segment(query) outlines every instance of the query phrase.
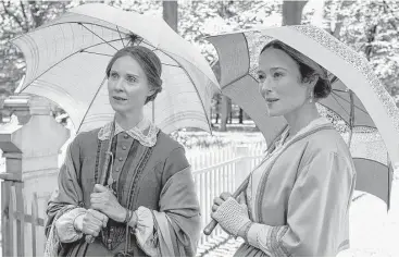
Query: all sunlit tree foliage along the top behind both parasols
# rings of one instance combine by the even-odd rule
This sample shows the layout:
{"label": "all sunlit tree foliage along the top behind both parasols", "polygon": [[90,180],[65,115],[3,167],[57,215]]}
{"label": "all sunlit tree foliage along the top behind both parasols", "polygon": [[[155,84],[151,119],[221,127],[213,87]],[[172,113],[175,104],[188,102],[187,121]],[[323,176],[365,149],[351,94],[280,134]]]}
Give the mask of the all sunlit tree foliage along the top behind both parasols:
{"label": "all sunlit tree foliage along the top behind both parasols", "polygon": [[[319,1],[319,0],[316,0]],[[58,17],[86,1],[0,2],[0,87],[13,91],[25,70],[21,52],[9,44],[13,37]],[[92,0],[87,2],[95,2]],[[126,11],[162,16],[162,1],[103,0]],[[303,9],[302,24],[312,22],[315,10]],[[204,37],[253,26],[282,24],[282,1],[178,1],[178,32],[198,47],[210,63],[217,59]],[[370,59],[378,77],[392,95],[399,93],[399,2],[326,0],[321,26]]]}

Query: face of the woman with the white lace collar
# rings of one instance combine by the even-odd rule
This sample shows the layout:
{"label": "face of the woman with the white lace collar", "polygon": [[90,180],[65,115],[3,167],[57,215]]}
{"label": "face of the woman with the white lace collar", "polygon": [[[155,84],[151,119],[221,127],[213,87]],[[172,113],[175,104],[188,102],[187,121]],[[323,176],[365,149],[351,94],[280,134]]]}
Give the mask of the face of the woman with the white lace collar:
{"label": "face of the woman with the white lace collar", "polygon": [[152,94],[140,64],[132,57],[119,58],[108,78],[108,93],[112,108],[122,114],[141,110]]}

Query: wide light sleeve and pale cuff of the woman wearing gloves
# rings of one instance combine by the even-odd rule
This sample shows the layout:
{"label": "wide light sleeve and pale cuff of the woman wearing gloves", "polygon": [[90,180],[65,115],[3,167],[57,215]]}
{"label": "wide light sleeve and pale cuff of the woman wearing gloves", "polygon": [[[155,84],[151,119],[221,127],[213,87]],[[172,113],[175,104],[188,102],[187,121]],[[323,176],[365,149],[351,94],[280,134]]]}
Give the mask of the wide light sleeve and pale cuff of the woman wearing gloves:
{"label": "wide light sleeve and pale cuff of the woman wearing gloves", "polygon": [[353,184],[348,160],[337,152],[316,153],[298,174],[287,224],[253,223],[249,244],[270,256],[336,256],[349,246],[348,232],[342,231],[348,229]]}

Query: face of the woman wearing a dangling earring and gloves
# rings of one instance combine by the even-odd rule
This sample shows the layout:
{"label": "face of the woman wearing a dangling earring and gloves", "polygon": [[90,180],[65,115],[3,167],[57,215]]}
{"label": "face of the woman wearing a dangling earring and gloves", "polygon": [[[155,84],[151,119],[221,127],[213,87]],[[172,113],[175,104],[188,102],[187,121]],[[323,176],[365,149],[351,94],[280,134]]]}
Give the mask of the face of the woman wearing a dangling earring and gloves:
{"label": "face of the woman wearing a dangling earring and gloves", "polygon": [[298,64],[283,50],[269,48],[261,53],[258,78],[271,116],[299,109],[310,96],[311,87],[301,83]]}

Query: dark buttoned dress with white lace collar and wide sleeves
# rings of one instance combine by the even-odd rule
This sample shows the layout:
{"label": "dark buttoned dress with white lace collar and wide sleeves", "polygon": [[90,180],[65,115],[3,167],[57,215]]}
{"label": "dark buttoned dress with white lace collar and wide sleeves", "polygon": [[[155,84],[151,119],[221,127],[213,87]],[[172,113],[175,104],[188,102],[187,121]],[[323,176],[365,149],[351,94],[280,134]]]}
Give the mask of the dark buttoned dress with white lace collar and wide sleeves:
{"label": "dark buttoned dress with white lace collar and wide sleeves", "polygon": [[[90,206],[113,125],[112,188],[123,207],[137,210],[138,222],[126,234],[126,224],[110,219],[87,244],[74,219]],[[184,148],[148,120],[128,131],[109,123],[77,135],[47,214],[49,256],[115,256],[126,244],[130,256],[195,256],[200,235],[199,202]]]}

